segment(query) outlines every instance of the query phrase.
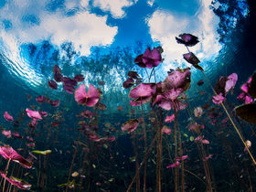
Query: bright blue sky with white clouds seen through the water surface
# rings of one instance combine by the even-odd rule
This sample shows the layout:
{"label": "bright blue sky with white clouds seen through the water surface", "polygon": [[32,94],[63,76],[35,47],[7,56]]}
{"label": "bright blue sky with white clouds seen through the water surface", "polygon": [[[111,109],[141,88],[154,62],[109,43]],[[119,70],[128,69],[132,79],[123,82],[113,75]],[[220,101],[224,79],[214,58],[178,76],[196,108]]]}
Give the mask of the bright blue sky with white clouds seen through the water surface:
{"label": "bright blue sky with white clouds seen through the water surface", "polygon": [[[0,51],[16,65],[15,75],[38,79],[23,58],[21,45],[47,39],[55,47],[71,41],[80,55],[91,47],[133,46],[136,39],[162,46],[163,69],[181,62],[187,49],[175,37],[191,33],[200,43],[191,51],[199,59],[218,55],[219,17],[211,0],[0,0]],[[206,66],[207,67],[207,66]]]}

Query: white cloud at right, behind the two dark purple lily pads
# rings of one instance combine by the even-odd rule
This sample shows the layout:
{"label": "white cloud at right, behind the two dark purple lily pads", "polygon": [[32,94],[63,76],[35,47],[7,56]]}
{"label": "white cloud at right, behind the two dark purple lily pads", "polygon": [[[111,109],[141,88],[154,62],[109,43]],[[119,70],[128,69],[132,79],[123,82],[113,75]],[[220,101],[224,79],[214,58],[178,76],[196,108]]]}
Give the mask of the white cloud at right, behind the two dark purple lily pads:
{"label": "white cloud at right, behind the two dark purple lily pads", "polygon": [[171,63],[183,61],[182,55],[187,53],[187,48],[176,43],[179,34],[190,33],[199,38],[200,43],[190,48],[198,53],[198,58],[207,59],[218,54],[217,25],[219,18],[208,8],[211,0],[200,1],[201,5],[195,16],[176,16],[171,12],[158,9],[146,20],[152,39],[159,41],[164,48],[165,69],[173,68]]}

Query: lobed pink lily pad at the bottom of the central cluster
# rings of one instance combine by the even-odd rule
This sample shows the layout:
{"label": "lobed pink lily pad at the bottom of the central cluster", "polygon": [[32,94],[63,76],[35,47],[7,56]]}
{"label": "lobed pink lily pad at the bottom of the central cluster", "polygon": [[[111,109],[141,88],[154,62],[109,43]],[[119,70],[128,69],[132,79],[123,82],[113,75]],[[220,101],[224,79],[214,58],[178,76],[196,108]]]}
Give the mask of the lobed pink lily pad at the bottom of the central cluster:
{"label": "lobed pink lily pad at the bottom of the central cluster", "polygon": [[155,102],[153,104],[157,104],[159,107],[169,111],[171,109],[176,111],[183,110],[187,107],[187,103],[183,103],[181,101],[177,101],[177,104],[175,104],[175,101],[180,93],[182,93],[184,90],[181,88],[178,89],[172,89],[171,91],[167,91],[162,95],[157,95]]}

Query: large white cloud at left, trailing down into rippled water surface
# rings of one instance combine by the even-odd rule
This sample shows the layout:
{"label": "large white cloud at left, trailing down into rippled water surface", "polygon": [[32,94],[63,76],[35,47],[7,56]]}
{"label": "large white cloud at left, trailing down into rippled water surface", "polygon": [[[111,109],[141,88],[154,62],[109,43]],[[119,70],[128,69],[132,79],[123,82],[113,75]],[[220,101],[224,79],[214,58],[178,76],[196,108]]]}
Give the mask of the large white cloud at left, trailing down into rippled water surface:
{"label": "large white cloud at left, trailing down into rippled water surface", "polygon": [[[38,4],[40,7],[33,5],[36,10],[32,11],[27,10],[27,6],[20,8],[20,5],[6,4],[0,12],[1,20],[8,20],[11,23],[11,27],[5,29],[5,24],[0,21],[2,51],[5,51],[8,59],[14,61],[8,68],[11,69],[10,72],[16,73],[29,83],[39,84],[42,79],[36,69],[30,69],[27,60],[22,58],[20,52],[22,44],[49,39],[53,45],[60,46],[65,41],[71,41],[81,55],[89,55],[91,46],[110,45],[117,34],[117,27],[109,27],[106,24],[107,16],[96,16],[84,10],[75,16],[67,17],[60,10],[54,13],[45,11],[42,9],[45,4],[41,1]],[[82,1],[81,5],[87,6],[86,1]],[[76,4],[69,3],[66,6],[72,9]],[[37,16],[38,25],[24,23],[24,16],[33,15]]]}

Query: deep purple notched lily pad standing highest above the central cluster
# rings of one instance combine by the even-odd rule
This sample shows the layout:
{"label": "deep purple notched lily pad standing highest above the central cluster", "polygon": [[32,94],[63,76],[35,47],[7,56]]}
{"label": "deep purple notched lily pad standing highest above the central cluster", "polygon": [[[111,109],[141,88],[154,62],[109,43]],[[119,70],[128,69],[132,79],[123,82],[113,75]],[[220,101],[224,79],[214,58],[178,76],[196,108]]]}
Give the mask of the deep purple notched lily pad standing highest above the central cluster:
{"label": "deep purple notched lily pad standing highest above the central cluster", "polygon": [[162,62],[161,53],[156,48],[153,48],[152,51],[150,48],[146,48],[143,55],[143,62],[147,68],[155,68]]}

